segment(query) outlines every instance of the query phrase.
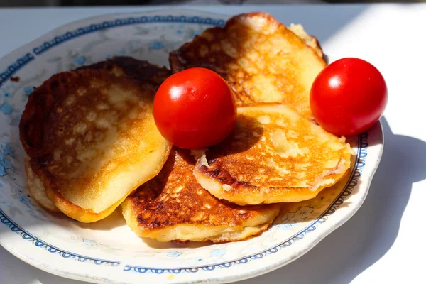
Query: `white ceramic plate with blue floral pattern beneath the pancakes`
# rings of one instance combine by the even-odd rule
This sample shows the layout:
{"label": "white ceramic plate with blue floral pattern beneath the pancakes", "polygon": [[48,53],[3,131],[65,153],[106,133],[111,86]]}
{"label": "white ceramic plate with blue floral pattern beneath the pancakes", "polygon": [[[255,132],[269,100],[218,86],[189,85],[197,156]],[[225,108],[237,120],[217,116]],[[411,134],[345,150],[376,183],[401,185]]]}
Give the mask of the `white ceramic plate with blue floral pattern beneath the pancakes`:
{"label": "white ceramic plate with blue floral pattern beneath the pancakes", "polygon": [[[380,124],[349,139],[350,175],[315,200],[293,204],[261,236],[185,246],[140,239],[119,212],[80,224],[41,209],[28,195],[18,122],[33,86],[55,72],[128,55],[168,65],[168,53],[227,16],[188,10],[114,14],[55,29],[0,60],[0,244],[23,261],[94,283],[224,283],[294,261],[364,202],[383,149]],[[19,77],[19,81],[13,80]]]}

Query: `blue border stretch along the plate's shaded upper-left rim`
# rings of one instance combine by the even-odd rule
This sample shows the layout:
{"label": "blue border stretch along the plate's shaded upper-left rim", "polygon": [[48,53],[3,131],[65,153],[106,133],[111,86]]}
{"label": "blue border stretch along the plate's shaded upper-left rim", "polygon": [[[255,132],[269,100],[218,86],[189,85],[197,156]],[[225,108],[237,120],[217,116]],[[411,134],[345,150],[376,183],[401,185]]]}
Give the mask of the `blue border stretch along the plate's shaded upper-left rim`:
{"label": "blue border stretch along the plate's shaded upper-left rim", "polygon": [[112,21],[103,21],[102,23],[92,23],[82,28],[77,28],[74,31],[67,31],[62,35],[55,36],[52,40],[45,41],[43,44],[36,48],[33,48],[33,53],[26,53],[23,57],[13,62],[9,67],[0,73],[0,87],[4,82],[9,80],[21,67],[31,62],[36,56],[45,53],[45,51],[54,48],[57,45],[65,43],[73,38],[78,38],[81,35],[87,35],[88,33],[94,33],[97,31],[106,30],[108,28],[116,28],[120,26],[130,26],[143,23],[198,23],[212,26],[224,26],[225,21],[215,18],[203,18],[198,16],[173,16],[173,15],[156,15],[156,16],[140,16],[140,17],[129,17],[129,18],[117,18]]}

